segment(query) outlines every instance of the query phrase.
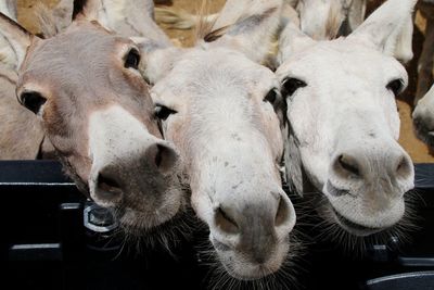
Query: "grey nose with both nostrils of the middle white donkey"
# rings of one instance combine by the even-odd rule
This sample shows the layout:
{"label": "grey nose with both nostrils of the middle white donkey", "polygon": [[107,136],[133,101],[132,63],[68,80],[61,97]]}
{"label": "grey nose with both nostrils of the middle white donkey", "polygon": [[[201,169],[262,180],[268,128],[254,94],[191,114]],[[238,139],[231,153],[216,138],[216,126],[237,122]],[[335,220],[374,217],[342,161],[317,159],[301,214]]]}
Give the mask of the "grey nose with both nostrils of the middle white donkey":
{"label": "grey nose with both nostrils of the middle white donkey", "polygon": [[289,237],[295,225],[295,211],[283,191],[270,192],[261,194],[260,202],[241,207],[221,203],[214,212],[214,223],[213,236],[219,243],[242,251],[256,264],[264,264],[272,255],[270,249]]}

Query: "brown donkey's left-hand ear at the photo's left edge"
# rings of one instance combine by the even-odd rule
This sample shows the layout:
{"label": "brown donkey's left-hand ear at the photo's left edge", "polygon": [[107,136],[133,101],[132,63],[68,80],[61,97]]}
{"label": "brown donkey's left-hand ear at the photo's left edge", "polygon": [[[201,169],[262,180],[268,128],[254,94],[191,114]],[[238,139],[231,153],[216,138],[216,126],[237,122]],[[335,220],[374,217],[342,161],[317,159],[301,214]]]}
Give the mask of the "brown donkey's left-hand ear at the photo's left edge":
{"label": "brown donkey's left-hand ear at the photo's left edge", "polygon": [[20,24],[0,13],[0,45],[9,46],[12,55],[7,56],[13,60],[12,66],[15,70],[23,63],[33,37]]}

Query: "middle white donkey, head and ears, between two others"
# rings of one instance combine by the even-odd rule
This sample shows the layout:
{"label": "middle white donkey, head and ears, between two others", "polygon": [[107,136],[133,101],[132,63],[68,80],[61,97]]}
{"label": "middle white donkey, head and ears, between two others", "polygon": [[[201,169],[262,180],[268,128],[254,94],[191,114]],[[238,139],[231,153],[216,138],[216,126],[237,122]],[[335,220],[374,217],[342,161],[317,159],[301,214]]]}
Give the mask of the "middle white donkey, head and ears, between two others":
{"label": "middle white donkey, head and ears, between two others", "polygon": [[[135,40],[145,51],[155,114],[180,151],[192,207],[209,228],[219,265],[254,280],[278,272],[293,250],[295,212],[279,169],[283,100],[273,73],[258,64],[281,1],[240,2],[227,1],[217,21],[225,26],[200,29],[193,48]],[[235,15],[239,5],[245,10]]]}

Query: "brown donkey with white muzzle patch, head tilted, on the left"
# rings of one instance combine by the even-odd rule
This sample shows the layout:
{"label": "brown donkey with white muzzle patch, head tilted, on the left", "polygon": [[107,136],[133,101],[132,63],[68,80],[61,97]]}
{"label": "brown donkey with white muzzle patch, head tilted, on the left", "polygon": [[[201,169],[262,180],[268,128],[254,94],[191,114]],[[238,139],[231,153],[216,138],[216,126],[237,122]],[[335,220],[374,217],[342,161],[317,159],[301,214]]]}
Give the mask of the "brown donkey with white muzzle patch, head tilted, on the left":
{"label": "brown donkey with white muzzle patch, head tilted, on the left", "polygon": [[[20,67],[9,89],[16,83],[18,102],[35,114],[38,130],[77,187],[113,210],[127,234],[151,234],[186,203],[177,179],[178,153],[162,140],[149,86],[138,70],[138,47],[79,15],[49,39],[0,15],[0,34]],[[21,137],[13,147],[27,146]]]}

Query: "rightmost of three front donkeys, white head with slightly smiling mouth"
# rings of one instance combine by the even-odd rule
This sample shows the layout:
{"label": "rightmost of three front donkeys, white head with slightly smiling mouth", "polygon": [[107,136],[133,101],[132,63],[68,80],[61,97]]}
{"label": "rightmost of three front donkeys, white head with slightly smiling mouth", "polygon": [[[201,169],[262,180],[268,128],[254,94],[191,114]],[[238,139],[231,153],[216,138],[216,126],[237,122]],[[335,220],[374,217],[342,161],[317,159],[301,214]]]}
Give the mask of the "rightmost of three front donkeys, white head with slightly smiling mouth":
{"label": "rightmost of three front donkeys, white head with slightly smiling mouth", "polygon": [[346,38],[316,41],[291,24],[280,38],[288,178],[299,194],[320,192],[308,196],[329,229],[342,234],[331,230],[332,238],[348,238],[342,241],[365,242],[357,237],[399,230],[406,220],[414,173],[397,142],[395,97],[408,76],[385,43],[414,4],[388,0]]}

